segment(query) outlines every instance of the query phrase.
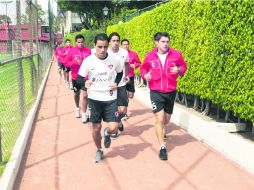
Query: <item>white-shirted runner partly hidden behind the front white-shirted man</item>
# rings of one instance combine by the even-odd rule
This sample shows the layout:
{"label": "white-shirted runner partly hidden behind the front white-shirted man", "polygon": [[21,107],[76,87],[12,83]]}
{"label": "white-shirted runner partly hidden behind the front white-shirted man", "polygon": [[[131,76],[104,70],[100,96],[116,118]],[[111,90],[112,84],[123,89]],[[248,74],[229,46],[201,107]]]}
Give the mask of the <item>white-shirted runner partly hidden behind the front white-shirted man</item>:
{"label": "white-shirted runner partly hidden behind the front white-shirted man", "polygon": [[[125,116],[128,107],[128,96],[126,91],[126,83],[129,82],[129,56],[128,52],[119,47],[120,45],[120,35],[117,32],[113,32],[109,35],[109,44],[110,48],[108,52],[118,56],[121,60],[123,69],[123,77],[117,87],[117,104],[119,110],[119,131],[122,132],[124,130],[124,126],[122,123],[122,118]],[[112,136],[113,138],[117,137],[117,134]]]}

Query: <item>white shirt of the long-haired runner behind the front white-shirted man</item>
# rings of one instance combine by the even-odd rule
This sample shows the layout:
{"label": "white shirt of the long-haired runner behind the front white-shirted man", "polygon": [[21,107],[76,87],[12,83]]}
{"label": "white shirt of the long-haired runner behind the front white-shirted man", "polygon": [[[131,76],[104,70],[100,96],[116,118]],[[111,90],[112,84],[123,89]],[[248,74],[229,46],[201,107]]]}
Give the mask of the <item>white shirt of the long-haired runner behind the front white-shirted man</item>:
{"label": "white shirt of the long-haired runner behind the front white-shirted man", "polygon": [[121,79],[121,81],[119,82],[118,86],[125,86],[126,82],[125,82],[125,63],[129,63],[129,54],[128,51],[123,49],[123,48],[119,48],[118,52],[113,52],[111,49],[108,49],[108,52],[116,55],[117,57],[119,57],[121,59],[121,67],[123,69],[123,77]]}

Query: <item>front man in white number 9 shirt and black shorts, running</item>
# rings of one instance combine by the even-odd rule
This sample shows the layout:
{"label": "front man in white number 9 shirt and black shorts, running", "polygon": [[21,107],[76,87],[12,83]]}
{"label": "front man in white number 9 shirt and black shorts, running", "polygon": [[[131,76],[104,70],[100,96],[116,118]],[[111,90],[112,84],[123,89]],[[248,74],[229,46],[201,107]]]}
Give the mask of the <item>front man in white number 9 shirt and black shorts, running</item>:
{"label": "front man in white number 9 shirt and black shorts, running", "polygon": [[[111,144],[110,134],[118,130],[117,85],[123,72],[118,57],[107,53],[109,38],[101,33],[95,36],[95,54],[86,58],[79,70],[78,83],[87,87],[90,109],[90,122],[93,128],[93,139],[97,148],[95,162],[103,159],[101,146],[101,120],[107,122],[104,129],[104,146]],[[117,75],[116,75],[117,73]]]}

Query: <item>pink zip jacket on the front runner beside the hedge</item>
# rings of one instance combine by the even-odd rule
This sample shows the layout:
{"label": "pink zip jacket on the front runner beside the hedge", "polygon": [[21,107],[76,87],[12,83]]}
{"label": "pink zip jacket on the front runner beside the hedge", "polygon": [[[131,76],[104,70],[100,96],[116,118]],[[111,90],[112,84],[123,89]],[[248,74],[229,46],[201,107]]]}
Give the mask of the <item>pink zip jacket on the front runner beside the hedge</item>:
{"label": "pink zip jacket on the front runner beside the hedge", "polygon": [[[177,66],[181,69],[179,73],[171,73],[170,69]],[[151,80],[148,82],[150,90],[158,92],[172,92],[176,90],[177,77],[183,76],[186,72],[186,63],[180,52],[169,48],[164,67],[157,55],[157,48],[149,52],[140,67],[140,74],[144,78],[145,74],[151,72]]]}

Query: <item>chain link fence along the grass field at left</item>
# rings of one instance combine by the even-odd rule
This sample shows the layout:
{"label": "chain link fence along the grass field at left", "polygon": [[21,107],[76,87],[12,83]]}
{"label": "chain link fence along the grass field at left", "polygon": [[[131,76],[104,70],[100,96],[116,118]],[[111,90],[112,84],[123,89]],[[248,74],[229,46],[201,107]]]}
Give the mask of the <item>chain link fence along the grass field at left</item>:
{"label": "chain link fence along the grass field at left", "polygon": [[[38,41],[37,1],[22,3],[0,2],[0,12],[5,13],[0,15],[0,174],[52,60],[50,44]],[[8,7],[12,11],[3,11]],[[28,18],[26,23],[21,23],[22,17]]]}

